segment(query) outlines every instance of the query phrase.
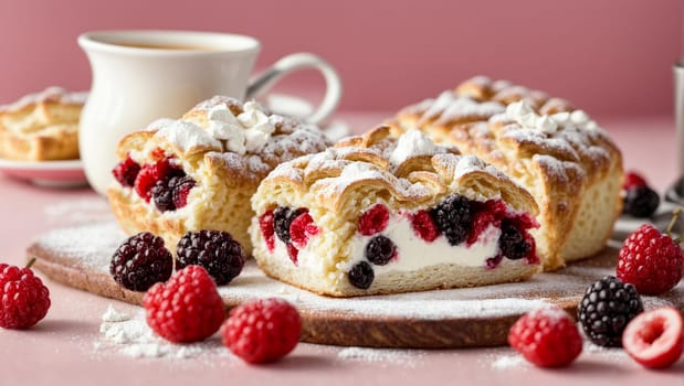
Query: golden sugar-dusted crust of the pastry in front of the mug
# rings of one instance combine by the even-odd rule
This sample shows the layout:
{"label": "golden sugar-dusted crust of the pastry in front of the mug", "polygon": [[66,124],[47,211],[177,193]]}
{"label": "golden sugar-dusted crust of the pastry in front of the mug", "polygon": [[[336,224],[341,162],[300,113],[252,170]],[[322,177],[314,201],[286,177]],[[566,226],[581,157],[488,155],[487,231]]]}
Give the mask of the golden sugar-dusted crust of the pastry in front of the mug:
{"label": "golden sugar-dusted crust of the pastry in front of the mug", "polygon": [[[248,106],[250,109],[245,110]],[[211,114],[233,119],[233,124],[210,119]],[[248,129],[234,119],[244,120],[250,115],[262,119],[252,122],[251,129],[262,125],[260,127],[270,132],[262,136],[262,142],[253,149],[238,149],[238,144],[229,143],[234,139],[231,132],[242,135]],[[229,129],[236,131],[227,131]],[[214,97],[179,120],[159,120],[147,130],[126,136],[117,147],[122,160],[130,157],[139,165],[150,165],[167,159],[182,170],[196,184],[189,192],[187,205],[161,212],[154,200],[146,202],[134,186],[118,182],[108,187],[107,196],[118,223],[128,234],[151,232],[164,237],[167,246],[175,250],[179,238],[188,230],[225,230],[249,255],[252,247],[246,229],[253,215],[250,199],[261,180],[278,163],[326,147],[327,141],[316,127],[270,115],[254,103],[243,105],[236,99]]]}

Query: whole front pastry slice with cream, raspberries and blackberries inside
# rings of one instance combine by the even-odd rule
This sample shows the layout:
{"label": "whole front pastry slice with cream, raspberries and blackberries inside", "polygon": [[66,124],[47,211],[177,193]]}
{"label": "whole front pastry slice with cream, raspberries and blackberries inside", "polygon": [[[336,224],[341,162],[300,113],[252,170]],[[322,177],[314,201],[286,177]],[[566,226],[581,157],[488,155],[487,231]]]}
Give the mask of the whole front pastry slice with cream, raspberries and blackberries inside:
{"label": "whole front pastry slice with cream, raspberries and blackberries inside", "polygon": [[540,270],[537,205],[495,168],[388,127],[278,165],[252,199],[253,256],[334,297],[473,287]]}

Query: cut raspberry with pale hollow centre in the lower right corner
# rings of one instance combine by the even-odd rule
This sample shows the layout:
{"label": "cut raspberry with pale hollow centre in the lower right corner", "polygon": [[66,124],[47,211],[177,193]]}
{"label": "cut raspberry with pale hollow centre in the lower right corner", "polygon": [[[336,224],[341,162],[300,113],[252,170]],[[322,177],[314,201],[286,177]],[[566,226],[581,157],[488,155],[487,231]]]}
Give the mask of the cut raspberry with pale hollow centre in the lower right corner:
{"label": "cut raspberry with pale hollow centre in the lower right corner", "polygon": [[669,367],[684,350],[682,324],[682,314],[671,307],[643,312],[624,329],[622,346],[645,367]]}

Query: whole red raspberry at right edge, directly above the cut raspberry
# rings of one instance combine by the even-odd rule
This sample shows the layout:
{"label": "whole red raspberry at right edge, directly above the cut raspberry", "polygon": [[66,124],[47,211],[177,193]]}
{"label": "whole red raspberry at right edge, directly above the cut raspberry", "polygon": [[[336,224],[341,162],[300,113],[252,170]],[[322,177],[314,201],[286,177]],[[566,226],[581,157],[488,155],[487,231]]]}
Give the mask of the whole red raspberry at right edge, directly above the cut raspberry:
{"label": "whole red raspberry at right edge, directly above the cut raspberry", "polygon": [[684,254],[677,243],[650,224],[632,233],[618,253],[618,278],[641,294],[661,294],[673,289],[684,275]]}

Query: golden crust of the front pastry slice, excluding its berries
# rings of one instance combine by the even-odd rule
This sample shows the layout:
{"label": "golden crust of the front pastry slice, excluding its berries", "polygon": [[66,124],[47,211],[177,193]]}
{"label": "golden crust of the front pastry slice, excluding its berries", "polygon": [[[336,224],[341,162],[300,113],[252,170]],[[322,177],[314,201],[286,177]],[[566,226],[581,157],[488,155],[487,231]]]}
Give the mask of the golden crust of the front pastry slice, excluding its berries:
{"label": "golden crust of the front pastry slice, excluding its berries", "polygon": [[[419,131],[407,132],[404,137],[397,139],[390,135],[389,127],[381,126],[364,136],[344,139],[318,154],[285,162],[271,172],[252,199],[256,216],[250,234],[260,268],[293,286],[335,297],[483,286],[524,280],[537,272],[538,261],[526,259],[504,259],[502,269],[487,268],[484,262],[462,265],[454,262],[460,258],[455,249],[449,249],[453,253],[448,254],[451,260],[446,262],[408,270],[393,266],[375,274],[367,289],[349,282],[349,267],[364,258],[362,250],[358,253],[354,244],[360,232],[357,224],[361,214],[375,205],[386,206],[390,218],[399,218],[397,224],[434,207],[452,194],[482,203],[503,200],[511,211],[533,217],[537,214],[532,195],[492,165],[473,156],[461,156],[454,148],[434,147]],[[319,229],[296,258],[283,254],[287,247],[290,255],[291,245],[274,238],[270,246],[262,230],[264,218],[275,216],[278,207],[305,208]],[[441,243],[448,244],[443,237]],[[494,244],[494,254],[497,248]],[[463,253],[470,254],[470,246],[463,247]],[[421,259],[410,253],[399,256],[399,259]]]}

